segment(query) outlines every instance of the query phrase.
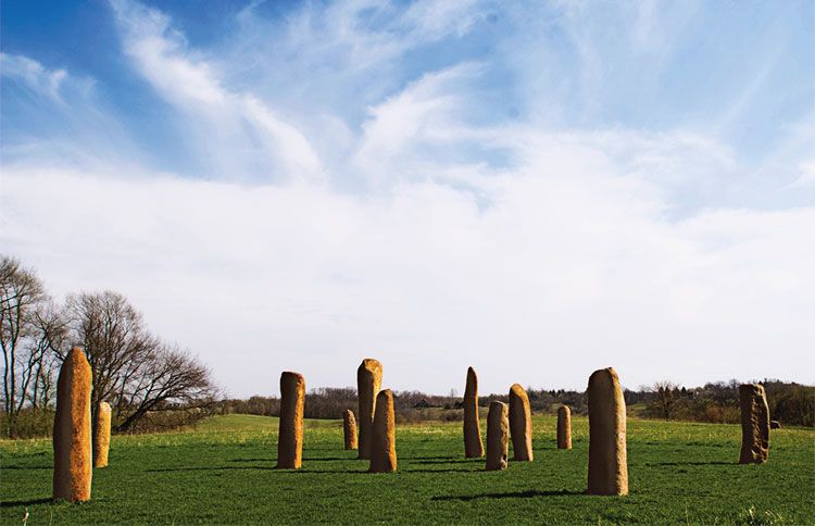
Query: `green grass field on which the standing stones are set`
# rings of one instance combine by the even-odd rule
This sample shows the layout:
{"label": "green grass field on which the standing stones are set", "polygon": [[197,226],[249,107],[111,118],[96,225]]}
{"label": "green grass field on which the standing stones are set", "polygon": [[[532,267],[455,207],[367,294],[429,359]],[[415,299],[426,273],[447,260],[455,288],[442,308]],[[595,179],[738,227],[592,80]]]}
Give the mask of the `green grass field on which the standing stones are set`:
{"label": "green grass field on which the standing stones are set", "polygon": [[367,474],[339,421],[306,421],[303,468],[274,469],[277,419],[230,415],[197,429],[113,438],[88,503],[52,503],[49,440],[0,442],[0,522],[88,523],[815,523],[815,431],[773,431],[769,462],[737,464],[732,425],[629,419],[631,494],[589,497],[588,422],[574,449],[535,417],[535,462],[485,472],[461,423],[397,429],[399,472]]}

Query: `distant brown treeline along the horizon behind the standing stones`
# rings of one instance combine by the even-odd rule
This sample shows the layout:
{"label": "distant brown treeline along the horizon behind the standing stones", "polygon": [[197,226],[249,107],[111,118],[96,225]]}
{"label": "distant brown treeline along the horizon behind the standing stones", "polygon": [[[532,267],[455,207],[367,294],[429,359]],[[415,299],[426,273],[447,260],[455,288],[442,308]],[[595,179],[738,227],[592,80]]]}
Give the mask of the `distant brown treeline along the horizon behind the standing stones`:
{"label": "distant brown treeline along the horizon behind the standing stones", "polygon": [[[789,426],[815,426],[815,387],[780,380],[761,383],[767,392],[770,417]],[[529,405],[535,413],[554,414],[566,404],[575,414],[586,414],[586,392],[527,388]],[[629,412],[644,418],[681,419],[736,424],[739,414],[739,383],[736,380],[686,388],[668,381],[651,387],[625,390]],[[479,397],[486,410],[492,400],[506,402],[507,393]],[[462,399],[456,396],[427,394],[419,391],[397,391],[393,396],[397,422],[461,421]],[[277,416],[280,400],[275,397],[227,399],[221,402],[222,413]],[[339,418],[350,409],[356,412],[356,389],[318,388],[305,397],[306,418]]]}

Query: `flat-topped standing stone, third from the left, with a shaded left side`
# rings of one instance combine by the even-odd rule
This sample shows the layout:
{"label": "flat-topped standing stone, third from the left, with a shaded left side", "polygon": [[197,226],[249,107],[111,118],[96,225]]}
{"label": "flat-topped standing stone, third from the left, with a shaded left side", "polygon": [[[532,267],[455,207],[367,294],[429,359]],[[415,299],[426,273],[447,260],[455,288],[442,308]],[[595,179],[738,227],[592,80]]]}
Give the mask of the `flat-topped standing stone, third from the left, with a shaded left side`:
{"label": "flat-topped standing stone, third from the left, with a shaded left side", "polygon": [[305,379],[298,373],[280,375],[280,427],[277,436],[277,467],[300,469],[303,464],[303,406]]}

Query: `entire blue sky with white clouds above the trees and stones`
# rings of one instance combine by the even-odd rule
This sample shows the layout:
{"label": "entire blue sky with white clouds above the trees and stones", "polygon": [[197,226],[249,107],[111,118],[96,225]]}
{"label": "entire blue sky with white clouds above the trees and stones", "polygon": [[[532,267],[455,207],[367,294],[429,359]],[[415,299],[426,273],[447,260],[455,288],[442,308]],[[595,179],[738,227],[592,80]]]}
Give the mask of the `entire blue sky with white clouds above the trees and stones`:
{"label": "entire blue sky with white clouds above the trees and stones", "polygon": [[3,2],[0,242],[237,394],[367,354],[437,392],[812,381],[814,12]]}

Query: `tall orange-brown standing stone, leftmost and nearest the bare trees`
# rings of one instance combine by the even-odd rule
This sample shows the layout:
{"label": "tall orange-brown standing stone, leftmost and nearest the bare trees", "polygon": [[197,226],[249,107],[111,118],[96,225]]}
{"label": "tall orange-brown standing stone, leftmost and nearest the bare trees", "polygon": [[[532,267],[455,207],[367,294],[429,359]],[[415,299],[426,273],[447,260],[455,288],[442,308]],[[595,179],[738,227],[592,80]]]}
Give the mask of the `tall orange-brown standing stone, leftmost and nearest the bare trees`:
{"label": "tall orange-brown standing stone, leftmost and nearest the bare trees", "polygon": [[53,498],[90,500],[93,474],[90,390],[92,373],[82,349],[65,356],[57,380],[53,421]]}

